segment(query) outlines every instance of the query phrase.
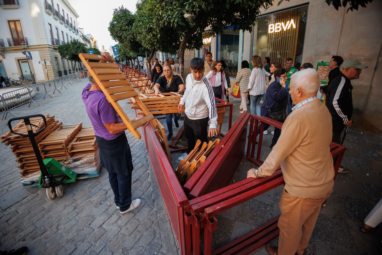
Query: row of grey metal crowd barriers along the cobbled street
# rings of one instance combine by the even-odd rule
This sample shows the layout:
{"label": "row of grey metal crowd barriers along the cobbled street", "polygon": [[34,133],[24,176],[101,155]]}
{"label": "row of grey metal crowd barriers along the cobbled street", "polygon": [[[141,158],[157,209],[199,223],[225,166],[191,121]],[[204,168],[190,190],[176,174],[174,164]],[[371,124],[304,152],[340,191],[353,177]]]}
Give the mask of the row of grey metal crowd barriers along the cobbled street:
{"label": "row of grey metal crowd barriers along the cobbled street", "polygon": [[15,114],[13,114],[13,112],[10,111],[11,109],[26,104],[28,102],[28,107],[31,106],[32,102],[39,106],[39,104],[34,99],[40,96],[44,96],[43,99],[45,99],[45,96],[47,95],[53,98],[50,94],[48,94],[49,92],[53,91],[54,94],[57,90],[59,93],[61,93],[58,87],[60,87],[60,89],[62,89],[62,87],[67,89],[66,86],[68,86],[68,84],[73,85],[74,82],[80,81],[81,78],[86,77],[87,71],[77,71],[74,73],[70,73],[69,75],[55,78],[53,80],[44,81],[42,83],[33,84],[28,87],[3,93],[2,95],[0,95],[0,111],[2,111],[3,113],[2,120],[6,119],[8,114],[12,115],[13,117],[17,117]]}

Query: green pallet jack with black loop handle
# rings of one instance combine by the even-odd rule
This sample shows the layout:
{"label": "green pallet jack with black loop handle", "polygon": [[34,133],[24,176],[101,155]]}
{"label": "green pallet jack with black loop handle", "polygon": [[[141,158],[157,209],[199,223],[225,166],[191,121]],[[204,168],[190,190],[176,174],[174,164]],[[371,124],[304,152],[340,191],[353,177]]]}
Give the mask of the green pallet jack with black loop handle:
{"label": "green pallet jack with black loop handle", "polygon": [[[32,124],[29,120],[29,118],[34,117],[41,117],[45,124],[44,127],[40,128],[40,130],[38,130],[36,133],[33,133],[32,126],[37,126]],[[16,133],[12,130],[11,123],[16,120],[24,120],[25,128],[28,131],[28,135]],[[64,195],[62,184],[75,182],[77,174],[73,173],[72,171],[70,171],[70,169],[63,166],[60,162],[53,158],[45,159],[44,161],[42,160],[40,150],[37,146],[36,139],[34,138],[34,136],[42,132],[42,130],[44,130],[46,126],[47,121],[45,119],[45,116],[42,114],[28,115],[8,120],[8,127],[13,134],[29,137],[41,171],[38,187],[45,188],[47,197],[49,199],[53,199],[55,197],[55,194],[57,194],[57,197],[62,197]]]}

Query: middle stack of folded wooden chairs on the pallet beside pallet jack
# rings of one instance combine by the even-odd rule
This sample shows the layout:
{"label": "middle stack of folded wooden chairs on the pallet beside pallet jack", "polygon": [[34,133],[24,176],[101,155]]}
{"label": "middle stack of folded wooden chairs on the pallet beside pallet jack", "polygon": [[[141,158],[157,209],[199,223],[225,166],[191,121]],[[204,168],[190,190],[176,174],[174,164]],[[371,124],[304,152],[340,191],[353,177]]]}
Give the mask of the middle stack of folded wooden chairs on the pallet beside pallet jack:
{"label": "middle stack of folded wooden chairs on the pallet beside pallet jack", "polygon": [[43,159],[54,158],[61,161],[68,157],[68,145],[82,128],[82,123],[62,125],[39,143]]}

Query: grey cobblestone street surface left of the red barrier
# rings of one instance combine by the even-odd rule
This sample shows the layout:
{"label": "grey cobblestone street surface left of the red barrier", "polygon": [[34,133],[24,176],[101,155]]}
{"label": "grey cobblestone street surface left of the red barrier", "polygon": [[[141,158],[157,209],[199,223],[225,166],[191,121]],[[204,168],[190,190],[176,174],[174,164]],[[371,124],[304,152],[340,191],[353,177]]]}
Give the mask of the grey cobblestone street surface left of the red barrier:
{"label": "grey cobblestone street surface left of the red barrier", "polygon": [[[55,115],[65,124],[91,126],[81,91],[87,80],[69,85],[40,106],[20,106],[17,116]],[[127,102],[127,101],[126,101]],[[129,117],[130,106],[121,103]],[[8,131],[0,121],[0,134]],[[121,215],[115,208],[108,174],[64,184],[64,196],[49,200],[43,188],[24,188],[9,146],[0,145],[0,250],[27,245],[28,254],[178,254],[170,222],[151,170],[143,139],[127,133],[133,156],[133,199],[141,205]]]}

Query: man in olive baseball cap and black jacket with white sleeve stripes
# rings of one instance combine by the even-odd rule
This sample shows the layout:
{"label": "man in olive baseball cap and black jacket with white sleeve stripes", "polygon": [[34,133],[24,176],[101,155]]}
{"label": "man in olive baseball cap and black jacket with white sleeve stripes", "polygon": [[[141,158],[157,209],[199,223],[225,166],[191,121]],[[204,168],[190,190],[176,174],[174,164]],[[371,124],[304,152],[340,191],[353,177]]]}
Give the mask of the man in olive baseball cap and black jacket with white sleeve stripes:
{"label": "man in olive baseball cap and black jacket with white sleeve stripes", "polygon": [[[334,143],[341,143],[341,133],[345,126],[350,127],[353,123],[351,115],[353,114],[353,99],[351,97],[351,80],[359,78],[362,69],[367,68],[357,59],[348,59],[342,65],[341,75],[338,75],[330,82],[327,95],[326,106],[332,115],[333,138]],[[340,166],[338,172],[348,172]]]}

